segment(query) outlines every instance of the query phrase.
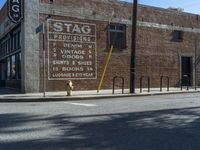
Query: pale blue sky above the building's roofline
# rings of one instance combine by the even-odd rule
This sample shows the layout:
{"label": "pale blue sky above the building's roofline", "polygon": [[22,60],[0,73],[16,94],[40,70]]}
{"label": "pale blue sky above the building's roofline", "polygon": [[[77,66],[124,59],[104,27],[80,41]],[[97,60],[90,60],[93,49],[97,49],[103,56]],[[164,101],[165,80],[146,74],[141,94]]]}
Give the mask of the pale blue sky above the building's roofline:
{"label": "pale blue sky above the building's roofline", "polygon": [[[0,8],[6,0],[0,0]],[[132,2],[133,0],[125,0]],[[186,12],[200,14],[200,0],[138,0],[140,4],[157,6],[162,8],[179,7],[183,8]]]}

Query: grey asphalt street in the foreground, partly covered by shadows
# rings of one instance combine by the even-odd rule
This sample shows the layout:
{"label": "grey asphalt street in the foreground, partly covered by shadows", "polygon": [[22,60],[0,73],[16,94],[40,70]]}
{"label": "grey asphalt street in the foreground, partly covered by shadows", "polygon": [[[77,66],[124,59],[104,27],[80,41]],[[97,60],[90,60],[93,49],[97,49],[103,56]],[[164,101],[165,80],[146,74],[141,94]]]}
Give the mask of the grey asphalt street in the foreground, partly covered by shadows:
{"label": "grey asphalt street in the foreground, partly covered by shadows", "polygon": [[200,94],[0,103],[0,150],[200,150]]}

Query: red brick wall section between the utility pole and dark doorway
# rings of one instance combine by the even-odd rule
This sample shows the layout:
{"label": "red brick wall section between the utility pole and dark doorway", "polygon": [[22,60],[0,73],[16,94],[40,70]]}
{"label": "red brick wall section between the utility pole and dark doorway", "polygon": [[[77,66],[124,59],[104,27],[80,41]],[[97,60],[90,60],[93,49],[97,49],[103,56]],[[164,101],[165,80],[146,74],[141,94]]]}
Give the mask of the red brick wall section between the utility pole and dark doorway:
{"label": "red brick wall section between the utility pole and dark doorway", "polygon": [[[184,33],[183,42],[171,41],[171,30],[139,28],[137,35],[137,83],[150,76],[151,86],[159,87],[160,76],[169,76],[170,85],[178,86],[180,55],[194,55],[194,35]],[[199,51],[200,49],[198,49]]]}

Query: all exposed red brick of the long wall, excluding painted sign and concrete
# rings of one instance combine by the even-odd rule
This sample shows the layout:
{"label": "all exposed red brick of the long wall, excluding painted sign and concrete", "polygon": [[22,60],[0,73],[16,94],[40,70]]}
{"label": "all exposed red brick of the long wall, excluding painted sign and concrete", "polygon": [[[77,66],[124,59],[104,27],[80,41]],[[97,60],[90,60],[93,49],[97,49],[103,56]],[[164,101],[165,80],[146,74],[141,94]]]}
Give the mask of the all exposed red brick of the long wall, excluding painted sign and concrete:
{"label": "all exposed red brick of the long wall, excluding painted sign and concrete", "polygon": [[[47,0],[41,0],[48,2]],[[131,5],[127,3],[101,3],[96,0],[56,0],[55,5],[66,5],[76,8],[84,7],[92,9],[95,13],[101,15],[110,15],[113,9],[116,12],[114,17],[131,18]],[[123,6],[123,7],[122,7]],[[41,21],[45,15],[40,16]],[[103,67],[108,55],[107,25],[109,22],[95,21],[88,19],[77,19],[70,17],[52,16],[53,19],[66,19],[71,21],[89,22],[96,24],[97,30],[97,70],[96,80],[74,80],[75,90],[96,90],[100,81]],[[138,20],[145,22],[154,22],[179,27],[199,27],[200,17],[187,13],[177,13],[164,9],[154,9],[152,7],[140,6],[138,11]],[[173,30],[138,27],[137,29],[137,51],[136,51],[136,84],[139,87],[141,76],[149,76],[151,87],[159,87],[160,76],[170,77],[170,86],[178,86],[180,81],[180,56],[184,54],[194,55],[194,33],[184,32],[182,42],[173,42]],[[196,34],[199,36],[199,34]],[[125,78],[125,87],[129,88],[130,78],[130,54],[131,54],[131,26],[127,26],[127,49],[119,51],[114,50],[109,63],[103,89],[112,88],[112,79],[114,76],[123,76]],[[198,46],[197,56],[200,56]],[[41,55],[42,58],[42,55]],[[42,59],[41,59],[42,66]],[[200,64],[197,70],[198,83],[200,84]],[[166,84],[165,84],[166,85]],[[146,84],[145,84],[146,86]],[[47,81],[48,91],[64,90],[64,81]],[[41,68],[41,89],[42,89],[42,68]]]}

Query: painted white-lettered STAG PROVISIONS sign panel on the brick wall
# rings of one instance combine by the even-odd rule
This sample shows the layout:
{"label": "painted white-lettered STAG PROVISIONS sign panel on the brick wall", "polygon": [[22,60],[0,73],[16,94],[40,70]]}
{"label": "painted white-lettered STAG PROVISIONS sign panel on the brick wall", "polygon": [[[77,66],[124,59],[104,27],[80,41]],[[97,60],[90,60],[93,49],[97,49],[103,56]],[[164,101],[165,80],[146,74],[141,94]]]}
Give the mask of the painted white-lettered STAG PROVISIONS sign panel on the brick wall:
{"label": "painted white-lettered STAG PROVISIONS sign panel on the brick wall", "polygon": [[48,79],[96,79],[96,25],[49,19]]}

